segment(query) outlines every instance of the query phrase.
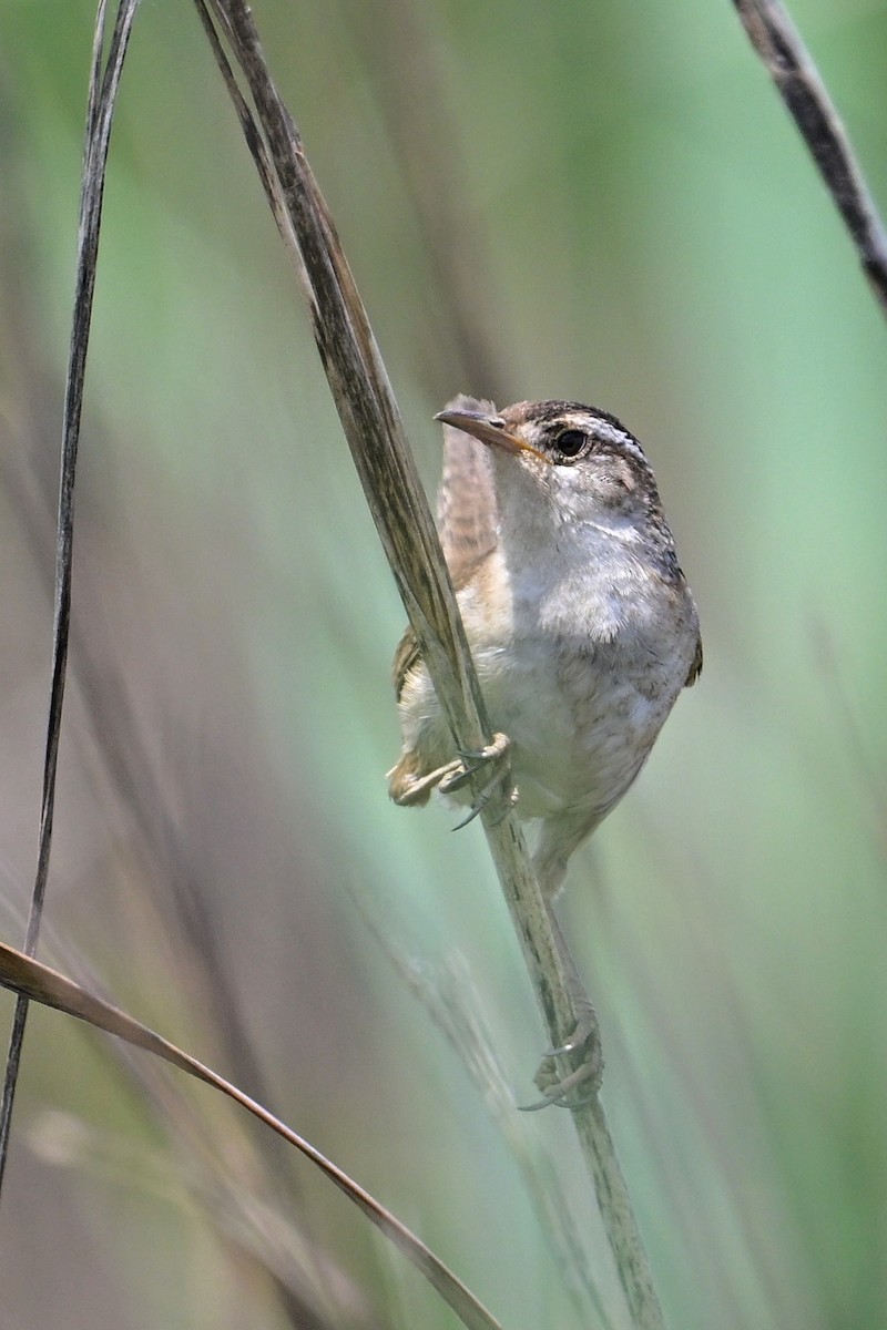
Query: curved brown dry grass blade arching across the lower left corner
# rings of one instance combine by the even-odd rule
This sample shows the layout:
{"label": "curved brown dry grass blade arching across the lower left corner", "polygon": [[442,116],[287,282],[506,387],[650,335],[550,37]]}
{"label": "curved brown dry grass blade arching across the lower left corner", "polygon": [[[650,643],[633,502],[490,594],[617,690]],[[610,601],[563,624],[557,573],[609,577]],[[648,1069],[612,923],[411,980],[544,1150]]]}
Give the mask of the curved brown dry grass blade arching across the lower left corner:
{"label": "curved brown dry grass blade arching across the lower left corner", "polygon": [[452,1307],[463,1325],[469,1330],[500,1330],[499,1322],[481,1306],[472,1293],[461,1283],[438,1257],[428,1250],[414,1233],[410,1232],[390,1210],[364,1192],[354,1182],[347,1173],[336,1168],[326,1156],[320,1154],[309,1141],[294,1132],[290,1127],[274,1117],[262,1104],[258,1104],[249,1095],[245,1095],[237,1085],[231,1085],[222,1076],[218,1076],[210,1067],[205,1067],[189,1053],[182,1052],[176,1044],[157,1035],[148,1025],[128,1016],[126,1012],[110,1003],[102,1001],[93,994],[73,983],[57,970],[41,964],[32,956],[0,943],[0,984],[12,992],[27,998],[31,1001],[43,1003],[45,1007],[55,1007],[69,1016],[76,1016],[96,1029],[104,1029],[109,1035],[141,1048],[145,1052],[162,1057],[164,1061],[178,1067],[197,1080],[211,1085],[229,1099],[234,1100],[249,1113],[253,1113],[261,1123],[270,1127],[285,1141],[295,1146],[306,1158],[324,1173],[339,1190],[354,1201],[363,1213],[372,1220],[378,1229],[394,1242],[394,1245],[407,1257],[407,1260],[428,1279],[442,1298]]}

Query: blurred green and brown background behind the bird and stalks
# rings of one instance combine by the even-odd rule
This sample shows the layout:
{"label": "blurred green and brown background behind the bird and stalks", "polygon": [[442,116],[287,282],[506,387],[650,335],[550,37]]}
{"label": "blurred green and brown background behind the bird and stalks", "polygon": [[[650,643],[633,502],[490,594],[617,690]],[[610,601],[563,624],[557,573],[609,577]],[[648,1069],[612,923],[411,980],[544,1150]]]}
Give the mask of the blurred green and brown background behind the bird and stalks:
{"label": "blurred green and brown background behind the bird and stalks", "polygon": [[[887,203],[887,8],[793,13]],[[1,12],[13,944],[92,17]],[[430,491],[455,391],[593,402],[644,440],[699,604],[702,680],[564,899],[669,1325],[883,1325],[887,330],[834,207],[727,0],[255,17]],[[439,1029],[453,1003],[480,1019],[532,1097],[543,1033],[483,835],[386,797],[402,609],[205,37],[170,0],[142,5],[112,142],[73,613],[41,955],[267,1099],[509,1330],[624,1326],[567,1116],[491,1111]],[[553,1216],[528,1185],[547,1168]],[[593,1287],[560,1267],[559,1225]],[[15,1330],[453,1325],[237,1111],[47,1012],[0,1286]]]}

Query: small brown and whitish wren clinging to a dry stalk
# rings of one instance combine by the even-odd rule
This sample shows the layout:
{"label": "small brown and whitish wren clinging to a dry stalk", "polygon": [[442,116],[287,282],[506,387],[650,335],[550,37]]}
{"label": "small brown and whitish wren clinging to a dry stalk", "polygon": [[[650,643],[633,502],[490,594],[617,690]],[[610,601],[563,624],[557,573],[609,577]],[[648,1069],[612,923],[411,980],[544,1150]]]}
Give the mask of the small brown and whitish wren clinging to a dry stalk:
{"label": "small brown and whitish wren clinging to a dry stalk", "polygon": [[455,751],[408,628],[394,661],[403,745],[388,793],[404,806],[435,789],[469,802],[480,761],[495,767],[507,753],[552,903],[570,855],[698,678],[698,613],[653,469],[614,415],[567,400],[497,411],[460,395],[436,419],[440,539],[496,741],[477,759]]}

